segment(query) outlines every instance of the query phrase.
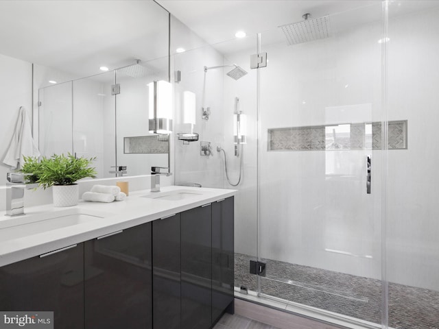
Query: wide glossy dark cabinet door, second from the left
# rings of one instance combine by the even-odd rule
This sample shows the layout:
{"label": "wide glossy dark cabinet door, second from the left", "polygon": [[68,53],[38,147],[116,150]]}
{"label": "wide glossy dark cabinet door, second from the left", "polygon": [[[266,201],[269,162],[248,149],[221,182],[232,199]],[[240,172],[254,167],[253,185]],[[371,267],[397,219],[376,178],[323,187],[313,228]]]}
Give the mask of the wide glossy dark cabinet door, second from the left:
{"label": "wide glossy dark cabinet door, second from the left", "polygon": [[152,328],[151,223],[86,241],[86,329]]}

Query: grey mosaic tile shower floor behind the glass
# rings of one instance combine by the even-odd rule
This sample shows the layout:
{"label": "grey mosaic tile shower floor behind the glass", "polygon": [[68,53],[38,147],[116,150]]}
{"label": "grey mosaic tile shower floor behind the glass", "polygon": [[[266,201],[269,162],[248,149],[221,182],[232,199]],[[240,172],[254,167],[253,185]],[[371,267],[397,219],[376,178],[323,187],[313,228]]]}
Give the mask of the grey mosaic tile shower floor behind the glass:
{"label": "grey mosaic tile shower floor behind the glass", "polygon": [[[248,273],[250,259],[254,260],[235,254],[235,286],[256,291],[256,276]],[[277,260],[265,262],[267,277],[261,278],[261,292],[381,324],[381,281]],[[439,329],[439,292],[390,283],[389,326]]]}

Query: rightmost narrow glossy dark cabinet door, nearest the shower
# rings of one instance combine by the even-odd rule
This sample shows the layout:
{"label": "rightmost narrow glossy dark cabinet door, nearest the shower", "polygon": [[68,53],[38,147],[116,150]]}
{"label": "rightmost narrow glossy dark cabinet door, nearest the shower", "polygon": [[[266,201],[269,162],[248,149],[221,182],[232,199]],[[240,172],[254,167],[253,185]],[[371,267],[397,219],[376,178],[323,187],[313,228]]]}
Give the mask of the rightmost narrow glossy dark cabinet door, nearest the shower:
{"label": "rightmost narrow glossy dark cabinet door, nearest the shower", "polygon": [[234,300],[234,202],[228,197],[212,204],[212,321]]}

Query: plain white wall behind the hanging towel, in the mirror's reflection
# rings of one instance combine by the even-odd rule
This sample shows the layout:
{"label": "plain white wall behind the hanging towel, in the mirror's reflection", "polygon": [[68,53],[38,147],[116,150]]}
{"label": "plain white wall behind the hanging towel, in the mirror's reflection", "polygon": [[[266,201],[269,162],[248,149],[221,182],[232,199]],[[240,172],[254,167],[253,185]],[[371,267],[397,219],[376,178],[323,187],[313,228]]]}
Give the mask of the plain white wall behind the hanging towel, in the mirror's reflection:
{"label": "plain white wall behind the hanging towel, in the mirror's reflection", "polygon": [[10,167],[3,164],[14,134],[19,108],[32,120],[32,64],[0,54],[0,186]]}

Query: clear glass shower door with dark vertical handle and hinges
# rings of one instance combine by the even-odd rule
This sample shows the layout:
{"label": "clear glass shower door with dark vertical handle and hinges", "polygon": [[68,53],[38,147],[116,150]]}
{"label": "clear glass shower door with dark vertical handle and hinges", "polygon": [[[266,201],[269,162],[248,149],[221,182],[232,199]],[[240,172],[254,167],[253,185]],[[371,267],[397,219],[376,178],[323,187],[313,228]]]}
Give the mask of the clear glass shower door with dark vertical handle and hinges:
{"label": "clear glass shower door with dark vertical handle and hinges", "polygon": [[319,24],[328,37],[292,45],[261,34],[260,293],[381,324],[381,3]]}

